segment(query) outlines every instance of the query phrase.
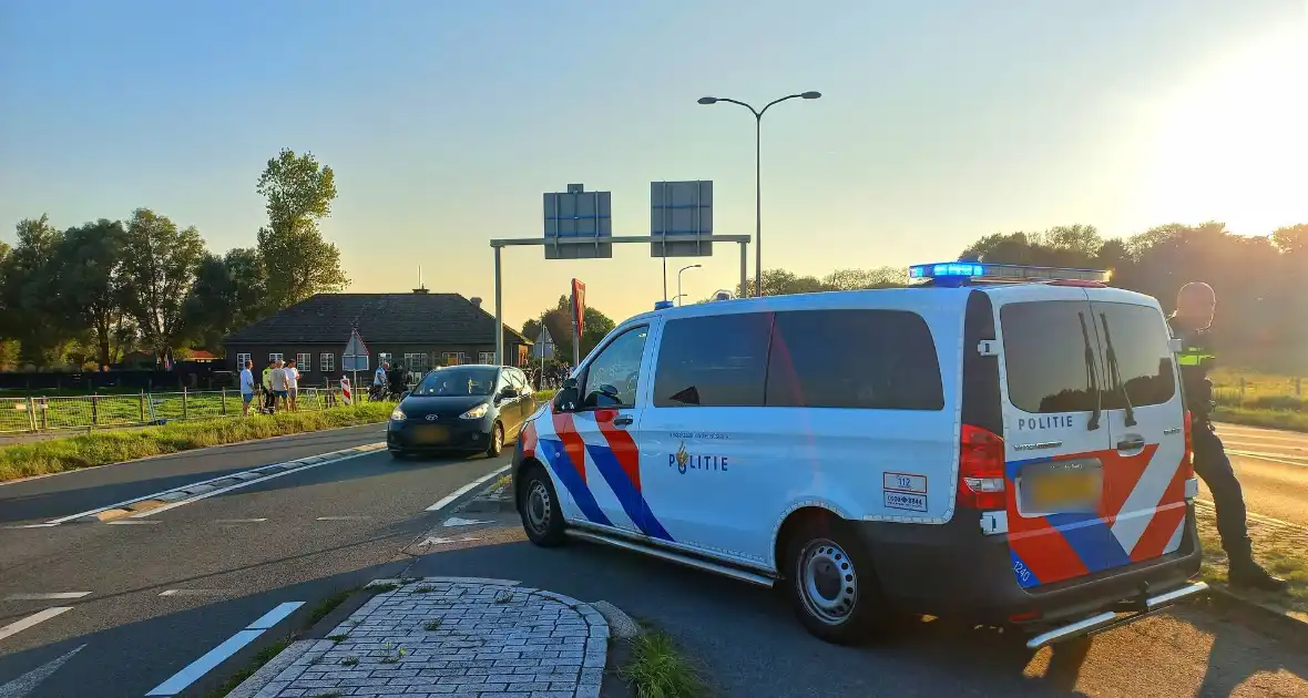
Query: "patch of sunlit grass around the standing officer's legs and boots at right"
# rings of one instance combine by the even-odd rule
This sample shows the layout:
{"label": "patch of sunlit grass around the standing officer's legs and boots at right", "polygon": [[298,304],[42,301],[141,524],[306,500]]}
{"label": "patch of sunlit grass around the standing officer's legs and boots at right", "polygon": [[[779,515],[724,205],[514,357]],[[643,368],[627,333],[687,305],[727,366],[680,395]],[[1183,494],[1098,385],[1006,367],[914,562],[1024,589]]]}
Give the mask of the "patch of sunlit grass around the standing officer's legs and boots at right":
{"label": "patch of sunlit grass around the standing officer's legs and boots at right", "polygon": [[[1203,542],[1203,567],[1199,574],[1209,584],[1226,587],[1227,557],[1222,550],[1216,519],[1213,508],[1196,507],[1199,540]],[[1290,582],[1288,593],[1264,593],[1239,591],[1241,599],[1299,614],[1308,622],[1308,536],[1274,524],[1249,519],[1249,537],[1253,539],[1253,556],[1271,574]]]}

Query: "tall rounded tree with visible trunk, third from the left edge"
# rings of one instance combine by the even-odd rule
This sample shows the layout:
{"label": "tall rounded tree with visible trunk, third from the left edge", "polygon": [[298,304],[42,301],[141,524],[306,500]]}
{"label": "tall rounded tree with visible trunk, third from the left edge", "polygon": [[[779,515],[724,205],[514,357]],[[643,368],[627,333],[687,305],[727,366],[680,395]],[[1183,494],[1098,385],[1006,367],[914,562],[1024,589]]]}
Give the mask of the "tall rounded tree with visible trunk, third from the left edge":
{"label": "tall rounded tree with visible trunk, third from the left edge", "polygon": [[166,216],[139,208],[127,224],[123,254],[123,310],[154,356],[167,357],[184,339],[182,307],[204,259],[200,233],[178,230]]}

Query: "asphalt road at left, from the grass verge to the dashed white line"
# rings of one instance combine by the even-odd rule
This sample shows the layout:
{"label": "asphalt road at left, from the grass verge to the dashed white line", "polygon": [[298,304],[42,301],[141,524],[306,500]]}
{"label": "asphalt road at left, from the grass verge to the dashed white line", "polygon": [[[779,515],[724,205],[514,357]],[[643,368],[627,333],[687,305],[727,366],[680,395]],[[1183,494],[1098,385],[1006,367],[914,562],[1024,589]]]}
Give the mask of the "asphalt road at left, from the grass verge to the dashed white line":
{"label": "asphalt road at left, from the grass verge to the dashed white line", "polygon": [[[373,426],[33,480],[0,486],[0,511],[26,524],[381,435]],[[3,528],[0,627],[71,610],[0,638],[0,695],[9,698],[5,682],[81,646],[26,695],[144,695],[281,603],[305,601],[307,613],[339,590],[394,574],[407,563],[400,550],[438,520],[426,507],[506,463],[396,463],[382,451],[141,519],[150,523]],[[14,599],[76,592],[90,593]]]}

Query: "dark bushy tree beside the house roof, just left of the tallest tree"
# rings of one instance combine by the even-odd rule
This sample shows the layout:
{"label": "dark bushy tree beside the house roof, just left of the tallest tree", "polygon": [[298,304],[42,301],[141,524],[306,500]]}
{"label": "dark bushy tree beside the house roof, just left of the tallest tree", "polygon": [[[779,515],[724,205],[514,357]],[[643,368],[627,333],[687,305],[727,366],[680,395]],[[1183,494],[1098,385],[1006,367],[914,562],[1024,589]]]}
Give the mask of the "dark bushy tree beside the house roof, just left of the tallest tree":
{"label": "dark bushy tree beside the house roof, just left of the tallest tree", "polygon": [[260,319],[266,308],[267,276],[259,251],[205,252],[182,315],[187,335],[201,346],[217,346],[222,337]]}

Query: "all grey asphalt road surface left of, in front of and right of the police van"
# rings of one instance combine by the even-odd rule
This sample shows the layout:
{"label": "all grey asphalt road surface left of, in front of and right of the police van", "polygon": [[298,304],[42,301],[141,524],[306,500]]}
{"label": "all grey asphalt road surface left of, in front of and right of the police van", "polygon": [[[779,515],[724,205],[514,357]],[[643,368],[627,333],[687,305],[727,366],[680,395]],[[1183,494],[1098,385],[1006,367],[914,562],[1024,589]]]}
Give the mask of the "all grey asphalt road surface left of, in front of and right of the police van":
{"label": "all grey asphalt road surface left of, in front of and right of the police van", "polygon": [[[1303,438],[1244,427],[1222,434],[1250,452],[1274,439],[1292,450]],[[1308,695],[1301,648],[1199,609],[1035,655],[1018,638],[947,621],[905,625],[880,647],[840,648],[811,638],[766,591],[595,545],[538,549],[511,514],[442,529],[447,514],[425,511],[506,459],[395,463],[369,454],[140,519],[150,523],[7,528],[379,439],[381,427],[358,427],[0,486],[0,635],[44,609],[69,608],[0,637],[0,697],[144,695],[279,604],[303,601],[298,613],[306,614],[335,591],[402,569],[608,600],[672,633],[723,695]],[[1298,472],[1294,455],[1282,459],[1288,463],[1240,456],[1252,510],[1277,502],[1279,468]],[[475,540],[403,554],[442,532]],[[48,677],[25,684],[30,690],[7,684],[77,648]]]}

